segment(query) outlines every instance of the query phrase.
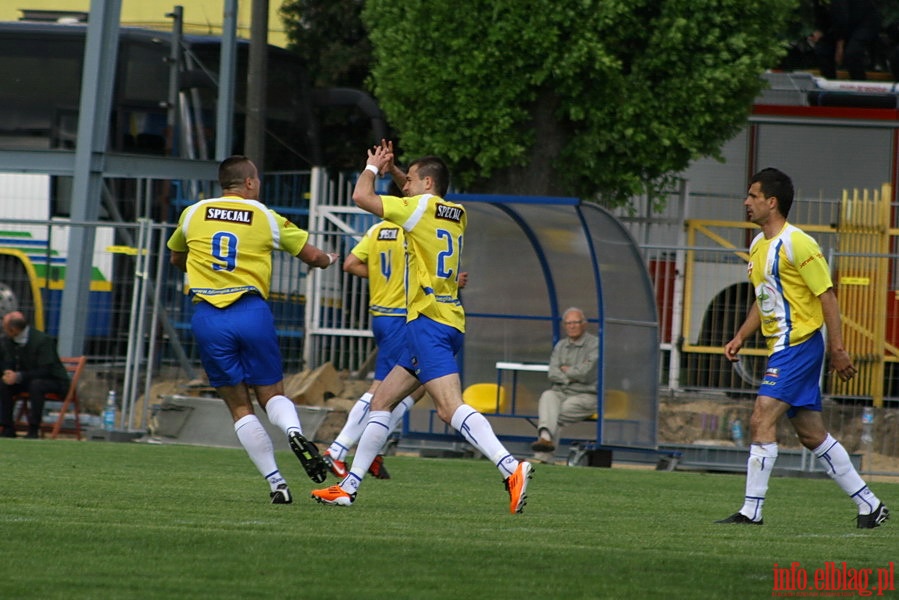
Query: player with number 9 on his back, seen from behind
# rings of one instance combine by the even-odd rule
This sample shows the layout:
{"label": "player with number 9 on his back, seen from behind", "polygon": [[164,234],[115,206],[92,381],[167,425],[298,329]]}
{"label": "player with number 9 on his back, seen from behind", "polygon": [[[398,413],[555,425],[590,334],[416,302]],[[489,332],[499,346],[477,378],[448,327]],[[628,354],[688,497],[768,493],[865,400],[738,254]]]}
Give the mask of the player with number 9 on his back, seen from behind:
{"label": "player with number 9 on his back, seen from behind", "polygon": [[168,241],[171,263],[187,273],[194,302],[191,329],[209,383],[228,405],[237,438],[268,481],[272,503],[290,504],[290,489],[248,386],[269,421],[284,431],[309,477],[321,483],[327,466],[303,437],[296,406],[284,395],[281,350],[266,302],[272,252],[289,252],[321,269],[337,255],[307,243],[306,231],[259,202],[259,174],[247,157],[222,161],[219,183],[221,197],[200,200],[181,213]]}

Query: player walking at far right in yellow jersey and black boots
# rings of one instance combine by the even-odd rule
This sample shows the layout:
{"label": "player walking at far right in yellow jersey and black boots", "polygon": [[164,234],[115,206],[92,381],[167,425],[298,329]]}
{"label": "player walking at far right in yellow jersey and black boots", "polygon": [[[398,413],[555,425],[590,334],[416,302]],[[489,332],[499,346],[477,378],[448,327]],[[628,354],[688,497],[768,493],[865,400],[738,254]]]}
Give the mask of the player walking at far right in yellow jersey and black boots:
{"label": "player walking at far right in yellow jersey and black boots", "polygon": [[724,346],[736,360],[743,342],[757,329],[768,343],[768,365],[750,421],[752,445],[746,468],[746,495],[739,512],[717,521],[761,525],[768,480],[777,459],[777,421],[786,413],[799,441],[858,507],[856,525],[877,527],[889,510],[868,488],[821,418],[819,378],[824,363],[822,326],[827,331],[830,369],[844,381],[856,370],[843,347],[840,309],[830,269],[817,242],[787,222],[793,182],[777,169],[750,180],[743,202],[750,221],[761,228],[749,248],[749,281],[756,301],[736,335]]}

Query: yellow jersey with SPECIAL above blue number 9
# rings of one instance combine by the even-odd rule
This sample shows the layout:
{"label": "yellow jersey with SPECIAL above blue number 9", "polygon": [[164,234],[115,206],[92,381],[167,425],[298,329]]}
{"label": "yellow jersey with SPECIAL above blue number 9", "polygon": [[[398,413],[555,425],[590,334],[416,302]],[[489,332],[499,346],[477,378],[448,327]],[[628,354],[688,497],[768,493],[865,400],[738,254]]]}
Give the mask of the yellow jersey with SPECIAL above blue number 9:
{"label": "yellow jersey with SPECIAL above blue number 9", "polygon": [[187,252],[194,301],[224,308],[246,293],[268,298],[272,252],[296,256],[308,239],[308,232],[261,202],[225,196],[185,208],[167,245]]}

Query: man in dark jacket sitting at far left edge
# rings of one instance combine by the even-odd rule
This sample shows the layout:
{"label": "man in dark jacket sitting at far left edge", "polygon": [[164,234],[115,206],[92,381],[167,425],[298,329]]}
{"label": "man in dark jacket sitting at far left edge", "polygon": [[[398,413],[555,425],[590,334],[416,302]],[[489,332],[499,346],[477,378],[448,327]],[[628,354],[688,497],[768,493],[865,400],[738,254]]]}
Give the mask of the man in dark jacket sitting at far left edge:
{"label": "man in dark jacket sitting at far left edge", "polygon": [[16,437],[13,396],[29,396],[28,435],[40,436],[44,399],[47,394],[64,396],[69,374],[56,353],[56,342],[43,331],[29,327],[25,315],[13,311],[3,316],[0,338],[0,426],[3,437]]}

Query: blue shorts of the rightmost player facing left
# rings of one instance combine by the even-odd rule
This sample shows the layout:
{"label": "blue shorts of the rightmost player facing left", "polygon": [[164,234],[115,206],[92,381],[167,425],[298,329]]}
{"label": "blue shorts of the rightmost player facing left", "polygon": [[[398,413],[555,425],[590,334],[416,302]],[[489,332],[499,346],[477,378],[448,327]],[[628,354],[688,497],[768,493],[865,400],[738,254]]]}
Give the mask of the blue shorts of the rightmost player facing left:
{"label": "blue shorts of the rightmost player facing left", "polygon": [[768,367],[759,387],[759,396],[770,396],[796,409],[821,412],[821,367],[824,364],[824,337],[821,332],[798,346],[785,348],[768,357]]}

